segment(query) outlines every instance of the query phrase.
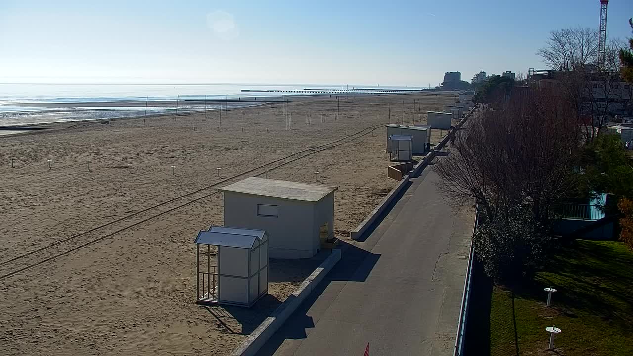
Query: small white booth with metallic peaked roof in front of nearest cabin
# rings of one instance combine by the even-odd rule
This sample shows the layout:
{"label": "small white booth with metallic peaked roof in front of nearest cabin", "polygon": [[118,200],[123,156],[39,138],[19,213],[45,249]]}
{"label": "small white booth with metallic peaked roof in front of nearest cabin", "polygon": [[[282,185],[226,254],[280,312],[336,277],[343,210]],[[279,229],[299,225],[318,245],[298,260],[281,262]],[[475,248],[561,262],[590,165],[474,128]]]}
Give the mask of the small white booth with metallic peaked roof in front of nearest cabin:
{"label": "small white booth with metallic peaked roof in front of nearest cabin", "polygon": [[251,307],[268,293],[266,231],[211,226],[195,243],[198,302]]}

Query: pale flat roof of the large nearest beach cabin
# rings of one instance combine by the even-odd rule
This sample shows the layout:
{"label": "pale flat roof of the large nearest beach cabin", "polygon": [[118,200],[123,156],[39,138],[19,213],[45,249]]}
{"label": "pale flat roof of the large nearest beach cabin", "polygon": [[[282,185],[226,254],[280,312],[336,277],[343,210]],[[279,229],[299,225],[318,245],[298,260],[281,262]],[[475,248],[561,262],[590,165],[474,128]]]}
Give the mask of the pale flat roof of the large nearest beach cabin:
{"label": "pale flat roof of the large nearest beach cabin", "polygon": [[250,177],[218,190],[289,200],[319,201],[336,189],[337,187]]}

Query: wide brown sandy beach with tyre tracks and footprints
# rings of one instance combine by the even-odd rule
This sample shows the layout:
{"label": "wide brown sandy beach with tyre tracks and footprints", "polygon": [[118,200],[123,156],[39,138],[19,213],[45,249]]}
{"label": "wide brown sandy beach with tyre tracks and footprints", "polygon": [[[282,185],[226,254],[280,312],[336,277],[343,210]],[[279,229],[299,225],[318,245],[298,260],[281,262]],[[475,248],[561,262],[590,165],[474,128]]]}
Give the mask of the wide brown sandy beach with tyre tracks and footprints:
{"label": "wide brown sandy beach with tyre tracks and footprints", "polygon": [[229,354],[318,260],[271,260],[270,295],[251,309],[196,305],[193,240],[222,225],[217,189],[266,170],[338,186],[334,228],[353,243],[349,231],[396,184],[384,125],[403,121],[403,101],[408,124],[454,102],[289,99],[290,122],[273,103],[223,111],[219,130],[209,111],[0,136],[0,355]]}

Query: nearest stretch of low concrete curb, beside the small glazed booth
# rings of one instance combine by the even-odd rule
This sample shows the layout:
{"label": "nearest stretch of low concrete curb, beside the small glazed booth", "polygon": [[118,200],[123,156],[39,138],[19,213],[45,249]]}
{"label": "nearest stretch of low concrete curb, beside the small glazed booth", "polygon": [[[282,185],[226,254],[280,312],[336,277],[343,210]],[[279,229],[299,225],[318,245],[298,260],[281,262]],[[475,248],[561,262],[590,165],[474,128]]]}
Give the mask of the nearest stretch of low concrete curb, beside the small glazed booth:
{"label": "nearest stretch of low concrete curb, beside the small glazed booth", "polygon": [[303,303],[316,285],[323,280],[334,265],[341,260],[341,250],[332,250],[329,257],[325,258],[315,271],[306,278],[299,288],[295,289],[275,311],[261,322],[241,345],[237,346],[230,356],[254,356],[268,339],[281,327],[286,319]]}

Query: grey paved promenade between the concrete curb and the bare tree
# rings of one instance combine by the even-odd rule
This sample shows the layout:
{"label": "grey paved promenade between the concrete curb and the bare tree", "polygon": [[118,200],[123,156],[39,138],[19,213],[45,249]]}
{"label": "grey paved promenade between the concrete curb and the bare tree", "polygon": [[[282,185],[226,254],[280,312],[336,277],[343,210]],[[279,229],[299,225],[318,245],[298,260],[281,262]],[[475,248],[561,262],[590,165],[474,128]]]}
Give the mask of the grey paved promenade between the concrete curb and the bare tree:
{"label": "grey paved promenade between the concrete curb and the bare tree", "polygon": [[454,213],[437,180],[412,179],[259,354],[452,355],[474,209]]}

